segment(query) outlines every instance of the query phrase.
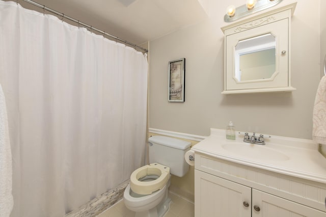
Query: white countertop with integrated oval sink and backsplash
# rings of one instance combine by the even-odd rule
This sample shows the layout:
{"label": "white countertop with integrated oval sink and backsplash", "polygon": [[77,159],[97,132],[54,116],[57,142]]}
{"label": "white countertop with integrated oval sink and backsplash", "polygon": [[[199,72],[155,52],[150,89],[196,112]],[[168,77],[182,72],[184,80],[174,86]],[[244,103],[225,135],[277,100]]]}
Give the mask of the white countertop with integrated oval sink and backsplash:
{"label": "white countertop with integrated oval sink and backsplash", "polygon": [[[326,183],[326,158],[318,152],[318,144],[312,140],[272,135],[265,139],[266,145],[257,145],[244,143],[243,135],[238,132],[235,141],[227,140],[225,133],[225,130],[211,128],[209,137],[192,150],[242,165]],[[259,137],[258,133],[256,135]]]}

